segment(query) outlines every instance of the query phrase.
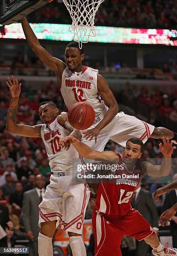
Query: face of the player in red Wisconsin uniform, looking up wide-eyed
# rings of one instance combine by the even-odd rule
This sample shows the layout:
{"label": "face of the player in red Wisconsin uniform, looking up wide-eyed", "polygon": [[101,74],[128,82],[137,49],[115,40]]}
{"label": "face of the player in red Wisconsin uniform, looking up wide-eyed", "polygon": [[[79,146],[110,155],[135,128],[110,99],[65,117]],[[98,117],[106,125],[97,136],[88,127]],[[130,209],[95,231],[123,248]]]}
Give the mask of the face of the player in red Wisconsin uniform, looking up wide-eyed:
{"label": "face of the player in red Wisconsin uniform, looking up wide-eyed", "polygon": [[124,149],[124,161],[129,163],[133,159],[139,159],[142,156],[141,146],[138,144],[134,144],[131,141],[128,141],[126,147]]}

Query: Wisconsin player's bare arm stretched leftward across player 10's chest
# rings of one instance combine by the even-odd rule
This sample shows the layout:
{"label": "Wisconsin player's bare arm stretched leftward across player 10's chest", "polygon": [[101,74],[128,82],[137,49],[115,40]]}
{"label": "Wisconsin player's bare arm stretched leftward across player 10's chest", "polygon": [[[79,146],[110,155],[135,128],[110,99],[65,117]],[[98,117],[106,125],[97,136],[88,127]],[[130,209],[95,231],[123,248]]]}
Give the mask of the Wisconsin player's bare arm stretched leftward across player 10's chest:
{"label": "Wisconsin player's bare arm stretched leftward across player 10's chest", "polygon": [[73,144],[73,146],[76,148],[78,153],[81,154],[81,156],[83,156],[84,158],[101,159],[101,160],[109,160],[109,161],[111,159],[114,160],[117,158],[117,155],[113,151],[99,152],[99,151],[93,150],[89,146],[82,143],[81,141],[79,141],[73,136],[66,136],[62,138],[60,141],[60,145],[64,146],[67,141]]}

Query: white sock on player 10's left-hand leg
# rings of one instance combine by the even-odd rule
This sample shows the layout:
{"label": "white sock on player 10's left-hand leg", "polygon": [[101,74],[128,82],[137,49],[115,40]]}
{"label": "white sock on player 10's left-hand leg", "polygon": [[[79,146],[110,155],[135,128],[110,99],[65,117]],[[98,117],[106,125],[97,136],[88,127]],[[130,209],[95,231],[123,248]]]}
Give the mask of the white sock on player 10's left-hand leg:
{"label": "white sock on player 10's left-hand leg", "polygon": [[52,238],[41,233],[38,235],[39,256],[53,256]]}

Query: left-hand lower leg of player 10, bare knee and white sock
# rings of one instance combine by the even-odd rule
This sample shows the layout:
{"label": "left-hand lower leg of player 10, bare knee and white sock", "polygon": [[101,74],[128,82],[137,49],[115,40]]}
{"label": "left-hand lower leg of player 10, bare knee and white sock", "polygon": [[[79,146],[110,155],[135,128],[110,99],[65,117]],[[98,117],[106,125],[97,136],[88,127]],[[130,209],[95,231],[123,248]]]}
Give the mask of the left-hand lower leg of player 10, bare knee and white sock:
{"label": "left-hand lower leg of player 10, bare knee and white sock", "polygon": [[53,256],[52,238],[56,230],[57,220],[40,223],[40,233],[38,235],[39,256]]}

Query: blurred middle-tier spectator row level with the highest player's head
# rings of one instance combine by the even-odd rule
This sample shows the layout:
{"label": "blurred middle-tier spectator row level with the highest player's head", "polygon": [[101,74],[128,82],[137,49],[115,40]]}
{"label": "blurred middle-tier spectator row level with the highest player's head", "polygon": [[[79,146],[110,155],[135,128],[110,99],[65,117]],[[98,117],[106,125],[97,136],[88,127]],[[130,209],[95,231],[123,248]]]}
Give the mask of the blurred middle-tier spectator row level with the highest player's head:
{"label": "blurred middle-tier spectator row level with the highest player's head", "polygon": [[[65,60],[61,58],[63,62]],[[166,79],[176,80],[177,79],[177,63],[172,61],[164,61],[162,65],[156,68],[144,68],[138,69],[137,67],[129,67],[126,61],[111,61],[107,67],[104,67],[101,61],[83,61],[83,65],[87,67],[93,67],[99,69],[102,73],[111,74],[124,74],[133,75],[134,79]],[[48,76],[54,77],[55,72],[48,69],[36,56],[28,56],[28,61],[24,60],[24,54],[18,52],[12,61],[7,61],[5,58],[0,58],[0,74],[6,74],[7,69],[10,68],[11,74],[14,75],[34,75],[34,76]],[[9,69],[8,69],[9,71]]]}

